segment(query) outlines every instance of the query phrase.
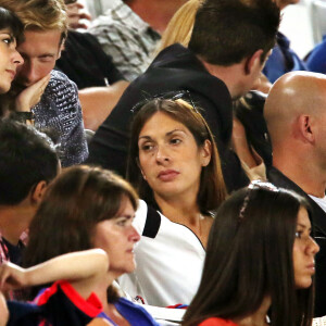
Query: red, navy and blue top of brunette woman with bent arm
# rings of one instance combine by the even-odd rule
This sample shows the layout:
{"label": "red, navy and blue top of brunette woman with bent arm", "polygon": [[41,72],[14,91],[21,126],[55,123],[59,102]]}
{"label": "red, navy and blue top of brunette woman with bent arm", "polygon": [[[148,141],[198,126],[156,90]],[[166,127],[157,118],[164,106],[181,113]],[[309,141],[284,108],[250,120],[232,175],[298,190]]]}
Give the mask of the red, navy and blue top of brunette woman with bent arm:
{"label": "red, navy and blue top of brunette woman with bent arm", "polygon": [[[156,326],[149,313],[137,304],[120,298],[116,310],[133,325]],[[9,301],[9,326],[82,326],[93,318],[104,318],[116,325],[105,313],[99,298],[91,293],[84,299],[65,280],[54,283],[42,291],[34,303]]]}

